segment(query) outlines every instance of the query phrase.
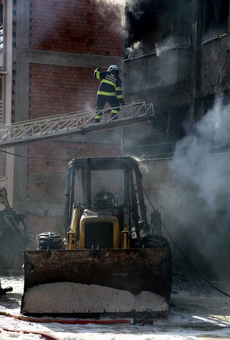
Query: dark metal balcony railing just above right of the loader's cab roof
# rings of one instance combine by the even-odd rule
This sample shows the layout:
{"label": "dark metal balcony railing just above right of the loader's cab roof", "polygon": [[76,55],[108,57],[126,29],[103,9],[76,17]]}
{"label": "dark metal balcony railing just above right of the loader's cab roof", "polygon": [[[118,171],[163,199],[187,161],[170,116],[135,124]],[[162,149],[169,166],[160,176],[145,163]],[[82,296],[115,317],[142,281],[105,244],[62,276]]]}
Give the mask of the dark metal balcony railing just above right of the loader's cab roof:
{"label": "dark metal balcony railing just above right of the loader's cab roof", "polygon": [[176,149],[177,142],[146,144],[125,148],[125,154],[143,159],[169,158],[174,157]]}

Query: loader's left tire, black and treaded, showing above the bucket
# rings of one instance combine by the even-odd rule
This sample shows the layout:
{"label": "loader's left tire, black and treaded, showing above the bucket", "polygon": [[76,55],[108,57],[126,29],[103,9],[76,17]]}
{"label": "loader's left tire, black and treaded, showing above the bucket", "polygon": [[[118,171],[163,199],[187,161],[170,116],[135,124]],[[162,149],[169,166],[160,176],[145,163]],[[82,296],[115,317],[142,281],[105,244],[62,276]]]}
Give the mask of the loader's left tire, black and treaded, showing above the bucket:
{"label": "loader's left tire, black and treaded, showing above the bucket", "polygon": [[43,233],[38,235],[36,242],[36,250],[50,250],[63,249],[64,243],[59,234],[55,233]]}

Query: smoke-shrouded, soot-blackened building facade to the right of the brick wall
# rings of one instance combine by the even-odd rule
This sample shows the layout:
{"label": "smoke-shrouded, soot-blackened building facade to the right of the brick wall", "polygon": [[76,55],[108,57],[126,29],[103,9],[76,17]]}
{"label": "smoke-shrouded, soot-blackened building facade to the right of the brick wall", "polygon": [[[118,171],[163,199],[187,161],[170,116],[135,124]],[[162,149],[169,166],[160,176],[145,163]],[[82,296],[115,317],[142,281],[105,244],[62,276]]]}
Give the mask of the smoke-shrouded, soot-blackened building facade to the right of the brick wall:
{"label": "smoke-shrouded, soot-blackened building facade to the right of the brick wall", "polygon": [[[211,276],[230,275],[229,30],[229,0],[127,2],[125,101],[153,102],[156,118],[138,138],[127,130],[124,150],[144,160],[153,206],[184,254]],[[191,268],[170,245],[175,265]]]}

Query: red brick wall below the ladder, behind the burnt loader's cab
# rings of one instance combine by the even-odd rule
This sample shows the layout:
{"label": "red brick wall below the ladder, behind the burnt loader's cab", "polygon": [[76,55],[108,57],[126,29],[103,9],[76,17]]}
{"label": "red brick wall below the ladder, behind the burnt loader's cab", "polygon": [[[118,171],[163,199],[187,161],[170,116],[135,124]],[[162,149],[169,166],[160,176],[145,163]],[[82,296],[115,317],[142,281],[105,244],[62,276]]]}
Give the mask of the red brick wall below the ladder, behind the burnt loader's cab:
{"label": "red brick wall below the ladder, behind the burnt loader's cab", "polygon": [[[66,187],[63,178],[67,173],[67,165],[72,158],[77,157],[103,157],[119,156],[120,145],[91,144],[74,142],[45,141],[31,143],[28,146],[29,157],[45,157],[46,159],[28,158],[27,170],[27,205],[33,206],[33,212],[29,212],[26,219],[28,230],[36,235],[52,231],[61,233],[63,223],[63,211],[65,206]],[[63,159],[63,160],[53,160]],[[99,175],[95,186],[93,183],[93,194],[100,188],[111,188],[116,191],[115,183],[118,174],[113,174],[114,185],[111,186],[111,178]],[[94,197],[93,197],[94,199]],[[76,201],[81,201],[81,191],[76,195]],[[31,208],[30,208],[31,209]],[[56,216],[54,216],[56,215]]]}

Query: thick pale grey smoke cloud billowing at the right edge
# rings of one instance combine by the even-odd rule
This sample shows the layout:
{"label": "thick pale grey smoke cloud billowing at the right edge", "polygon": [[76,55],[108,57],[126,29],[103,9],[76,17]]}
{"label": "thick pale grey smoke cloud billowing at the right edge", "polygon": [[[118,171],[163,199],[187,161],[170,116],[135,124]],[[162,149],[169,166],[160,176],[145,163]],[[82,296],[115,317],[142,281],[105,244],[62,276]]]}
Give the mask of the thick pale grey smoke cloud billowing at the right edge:
{"label": "thick pale grey smoke cloud billowing at the right edge", "polygon": [[[169,170],[175,187],[160,188],[162,211],[176,229],[176,240],[201,270],[226,275],[230,255],[230,104],[219,98],[192,132],[178,142]],[[173,181],[172,181],[173,182]],[[221,254],[221,256],[220,256]],[[221,259],[222,257],[222,259]]]}

